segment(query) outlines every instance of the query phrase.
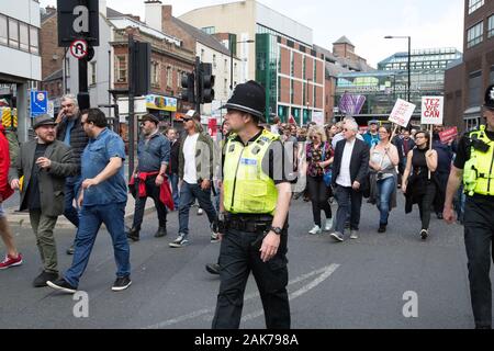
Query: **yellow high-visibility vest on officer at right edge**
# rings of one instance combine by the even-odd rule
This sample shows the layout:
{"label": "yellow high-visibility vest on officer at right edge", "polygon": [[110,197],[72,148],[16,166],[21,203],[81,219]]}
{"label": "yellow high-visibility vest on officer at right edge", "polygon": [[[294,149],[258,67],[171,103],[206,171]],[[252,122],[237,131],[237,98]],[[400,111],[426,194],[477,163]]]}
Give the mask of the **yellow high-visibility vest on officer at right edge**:
{"label": "yellow high-visibility vest on officer at right edge", "polygon": [[470,133],[471,139],[479,139],[489,145],[489,151],[482,152],[473,146],[470,151],[470,159],[463,169],[464,192],[472,196],[494,195],[494,141],[485,134],[485,126]]}

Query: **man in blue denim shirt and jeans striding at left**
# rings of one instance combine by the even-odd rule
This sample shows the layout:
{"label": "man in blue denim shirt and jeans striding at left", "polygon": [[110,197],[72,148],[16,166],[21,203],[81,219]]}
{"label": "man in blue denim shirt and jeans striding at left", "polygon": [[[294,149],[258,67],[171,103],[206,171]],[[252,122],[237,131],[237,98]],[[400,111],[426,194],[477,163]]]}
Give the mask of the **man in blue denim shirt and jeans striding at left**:
{"label": "man in blue denim shirt and jeans striding at left", "polygon": [[106,117],[99,109],[83,112],[81,124],[89,136],[89,144],[81,157],[82,191],[78,200],[81,207],[80,226],[76,236],[74,261],[64,278],[47,284],[65,293],[76,293],[100,226],[104,224],[112,237],[117,267],[116,281],[112,291],[120,292],[132,283],[131,250],[124,228],[127,202],[127,186],[123,170],[124,143],[119,135],[106,127]]}

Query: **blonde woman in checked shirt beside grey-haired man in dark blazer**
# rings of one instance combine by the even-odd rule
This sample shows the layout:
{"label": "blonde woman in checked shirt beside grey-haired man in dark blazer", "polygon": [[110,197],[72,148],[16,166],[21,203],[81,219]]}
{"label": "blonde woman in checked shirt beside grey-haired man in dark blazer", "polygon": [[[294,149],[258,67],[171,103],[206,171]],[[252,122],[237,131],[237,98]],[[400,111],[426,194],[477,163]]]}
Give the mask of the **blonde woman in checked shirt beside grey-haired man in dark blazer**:
{"label": "blonde woman in checked shirt beside grey-haired man in dark blazer", "polygon": [[[329,231],[333,227],[333,214],[329,205],[332,195],[330,186],[324,181],[324,173],[333,163],[333,148],[327,143],[326,133],[322,126],[313,126],[308,131],[312,143],[306,146],[306,174],[308,194],[312,201],[312,212],[314,216],[314,228],[308,234],[322,234],[323,229]],[[323,227],[321,211],[325,212],[326,223]]]}

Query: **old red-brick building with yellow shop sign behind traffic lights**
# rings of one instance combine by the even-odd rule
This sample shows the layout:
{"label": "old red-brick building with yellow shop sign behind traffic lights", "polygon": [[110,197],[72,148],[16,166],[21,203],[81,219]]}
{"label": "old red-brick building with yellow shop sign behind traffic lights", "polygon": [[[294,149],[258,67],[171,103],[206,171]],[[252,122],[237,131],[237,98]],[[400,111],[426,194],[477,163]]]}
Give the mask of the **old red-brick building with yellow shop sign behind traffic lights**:
{"label": "old red-brick building with yellow shop sign behind traffic lights", "polygon": [[[191,72],[193,52],[182,41],[157,31],[141,19],[106,8],[100,0],[100,46],[88,63],[88,84],[91,106],[114,105],[117,98],[128,95],[128,35],[135,41],[151,44],[150,91],[146,99],[147,112],[157,115],[164,124],[173,124],[193,106],[181,101],[181,78]],[[78,60],[67,55],[65,61],[66,91],[78,93]],[[111,93],[111,92],[112,93]],[[114,109],[104,107],[108,116]],[[126,135],[126,118],[121,117],[121,133]]]}

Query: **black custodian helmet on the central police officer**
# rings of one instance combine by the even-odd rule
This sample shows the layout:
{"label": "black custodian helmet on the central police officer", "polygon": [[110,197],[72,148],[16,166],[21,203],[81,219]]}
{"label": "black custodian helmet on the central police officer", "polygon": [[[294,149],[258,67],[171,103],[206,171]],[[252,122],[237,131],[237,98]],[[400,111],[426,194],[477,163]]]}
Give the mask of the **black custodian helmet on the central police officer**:
{"label": "black custodian helmet on the central police officer", "polygon": [[236,110],[251,114],[261,122],[266,122],[266,90],[254,80],[238,84],[232,94],[232,98],[222,109]]}

